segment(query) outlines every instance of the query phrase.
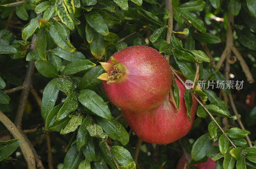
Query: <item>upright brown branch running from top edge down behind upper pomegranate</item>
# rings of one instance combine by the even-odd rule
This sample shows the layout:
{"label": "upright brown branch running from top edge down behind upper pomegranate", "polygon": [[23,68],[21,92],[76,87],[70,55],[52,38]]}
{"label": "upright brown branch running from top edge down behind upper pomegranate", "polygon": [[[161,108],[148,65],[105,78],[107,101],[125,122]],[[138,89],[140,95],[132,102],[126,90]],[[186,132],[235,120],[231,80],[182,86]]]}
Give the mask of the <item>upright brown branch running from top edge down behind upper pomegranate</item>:
{"label": "upright brown branch running from top edge down behind upper pomegranate", "polygon": [[[166,42],[171,43],[171,37],[172,37],[172,27],[173,27],[173,7],[172,7],[172,0],[168,1],[168,5],[166,7],[169,12],[169,18],[168,18],[168,29],[167,29],[167,35],[166,35]],[[165,58],[170,58],[169,55],[165,55]]]}

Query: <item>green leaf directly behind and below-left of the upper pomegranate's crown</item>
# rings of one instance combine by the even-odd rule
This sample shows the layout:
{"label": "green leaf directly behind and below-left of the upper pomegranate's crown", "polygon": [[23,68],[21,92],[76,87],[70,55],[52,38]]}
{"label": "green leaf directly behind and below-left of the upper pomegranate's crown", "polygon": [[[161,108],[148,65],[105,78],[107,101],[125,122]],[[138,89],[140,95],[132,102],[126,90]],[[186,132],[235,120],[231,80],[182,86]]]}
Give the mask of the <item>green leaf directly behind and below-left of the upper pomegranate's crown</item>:
{"label": "green leaf directly behind and below-left of the upper pomegranate's crown", "polygon": [[83,89],[94,89],[97,85],[101,83],[101,80],[97,79],[101,74],[105,73],[101,66],[95,66],[91,68],[83,78],[79,81],[77,88]]}

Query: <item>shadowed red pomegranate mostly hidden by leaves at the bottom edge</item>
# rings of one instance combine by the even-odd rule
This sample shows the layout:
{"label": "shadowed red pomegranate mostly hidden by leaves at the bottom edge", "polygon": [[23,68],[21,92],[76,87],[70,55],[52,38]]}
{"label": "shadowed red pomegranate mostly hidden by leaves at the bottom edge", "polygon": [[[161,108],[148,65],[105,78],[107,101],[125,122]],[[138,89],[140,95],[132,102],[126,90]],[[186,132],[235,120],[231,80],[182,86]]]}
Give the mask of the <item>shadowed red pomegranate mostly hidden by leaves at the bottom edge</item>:
{"label": "shadowed red pomegranate mostly hidden by leaves at the bottom edge", "polygon": [[[176,169],[183,169],[184,165],[186,163],[186,157],[185,154],[183,154],[177,164]],[[199,169],[215,169],[215,161],[213,161],[211,158],[208,158],[208,160],[204,163],[194,164]],[[187,166],[189,169],[189,166]]]}

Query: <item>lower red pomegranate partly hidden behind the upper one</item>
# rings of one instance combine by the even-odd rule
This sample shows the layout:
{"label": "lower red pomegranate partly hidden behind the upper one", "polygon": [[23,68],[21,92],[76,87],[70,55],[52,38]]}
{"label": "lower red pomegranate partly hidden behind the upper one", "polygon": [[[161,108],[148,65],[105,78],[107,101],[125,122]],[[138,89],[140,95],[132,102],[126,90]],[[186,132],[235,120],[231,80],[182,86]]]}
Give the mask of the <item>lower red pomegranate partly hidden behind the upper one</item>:
{"label": "lower red pomegranate partly hidden behind the upper one", "polygon": [[154,144],[170,144],[185,136],[191,129],[196,114],[197,101],[192,96],[191,121],[189,121],[183,99],[186,88],[176,77],[175,81],[180,95],[180,107],[177,113],[175,113],[176,109],[172,102],[169,101],[169,94],[162,104],[151,110],[131,112],[121,109],[125,121],[141,140]]}

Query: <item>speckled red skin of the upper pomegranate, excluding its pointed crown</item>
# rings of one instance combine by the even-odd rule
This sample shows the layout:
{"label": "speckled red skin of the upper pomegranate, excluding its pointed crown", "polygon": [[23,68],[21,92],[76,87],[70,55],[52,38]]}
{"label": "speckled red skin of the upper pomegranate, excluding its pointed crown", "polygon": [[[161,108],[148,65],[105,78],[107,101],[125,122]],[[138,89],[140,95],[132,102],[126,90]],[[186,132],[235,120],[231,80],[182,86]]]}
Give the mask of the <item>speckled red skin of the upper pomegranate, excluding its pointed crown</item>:
{"label": "speckled red skin of the upper pomegranate, excluding its pointed crown", "polygon": [[145,111],[163,102],[172,85],[172,73],[162,54],[148,46],[131,46],[116,52],[113,57],[126,72],[115,83],[102,81],[110,102],[129,111]]}

